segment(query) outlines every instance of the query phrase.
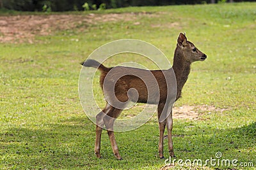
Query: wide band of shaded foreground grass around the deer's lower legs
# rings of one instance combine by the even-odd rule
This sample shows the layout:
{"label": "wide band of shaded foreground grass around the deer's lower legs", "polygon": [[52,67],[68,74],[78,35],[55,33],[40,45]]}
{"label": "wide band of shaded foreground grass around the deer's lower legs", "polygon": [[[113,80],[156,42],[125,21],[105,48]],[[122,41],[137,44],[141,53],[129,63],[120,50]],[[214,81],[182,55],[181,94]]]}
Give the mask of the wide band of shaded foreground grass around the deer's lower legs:
{"label": "wide band of shaded foreground grass around the deer's lower legs", "polygon": [[[179,127],[184,126],[180,124]],[[175,134],[177,159],[210,159],[216,152],[223,159],[256,162],[256,123],[235,129],[202,129]],[[56,124],[31,125],[8,129],[1,134],[1,164],[8,169],[141,169],[160,168],[164,160],[157,157],[158,126],[145,124],[131,132],[116,133],[124,160],[115,160],[108,135],[102,133],[102,156],[93,153],[95,125],[83,118],[70,118]],[[168,155],[164,140],[165,156]],[[215,167],[214,167],[215,168]]]}

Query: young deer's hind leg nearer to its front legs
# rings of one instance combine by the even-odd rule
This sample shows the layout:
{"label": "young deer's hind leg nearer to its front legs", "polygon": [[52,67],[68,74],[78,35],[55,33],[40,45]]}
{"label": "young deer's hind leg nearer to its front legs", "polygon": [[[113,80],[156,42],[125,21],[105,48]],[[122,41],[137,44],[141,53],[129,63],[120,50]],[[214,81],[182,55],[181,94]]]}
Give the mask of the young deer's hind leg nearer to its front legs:
{"label": "young deer's hind leg nearer to its front legs", "polygon": [[117,118],[121,112],[122,112],[122,110],[115,108],[112,111],[112,113],[106,115],[103,118],[104,124],[106,125],[106,129],[108,131],[108,136],[109,136],[109,140],[111,142],[111,147],[112,147],[113,153],[114,153],[116,159],[118,159],[118,160],[122,160],[122,157],[119,154],[118,146],[116,144],[116,139],[115,139],[115,135],[114,135],[114,122],[115,122],[115,118]]}

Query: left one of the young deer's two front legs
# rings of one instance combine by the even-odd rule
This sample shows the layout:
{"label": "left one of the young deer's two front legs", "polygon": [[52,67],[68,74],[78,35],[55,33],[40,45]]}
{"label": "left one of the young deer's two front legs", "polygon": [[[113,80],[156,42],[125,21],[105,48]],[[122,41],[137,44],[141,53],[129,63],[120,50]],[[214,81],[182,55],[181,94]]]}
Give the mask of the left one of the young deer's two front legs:
{"label": "left one of the young deer's two front legs", "polygon": [[[157,113],[158,113],[158,120],[161,116],[161,113],[164,109],[164,103],[159,103],[158,104],[158,108],[157,108]],[[164,159],[164,155],[163,155],[163,143],[164,143],[164,129],[165,129],[165,125],[166,125],[166,120],[164,120],[163,122],[159,122],[159,145],[158,145],[158,152],[159,152],[159,157],[161,159]]]}

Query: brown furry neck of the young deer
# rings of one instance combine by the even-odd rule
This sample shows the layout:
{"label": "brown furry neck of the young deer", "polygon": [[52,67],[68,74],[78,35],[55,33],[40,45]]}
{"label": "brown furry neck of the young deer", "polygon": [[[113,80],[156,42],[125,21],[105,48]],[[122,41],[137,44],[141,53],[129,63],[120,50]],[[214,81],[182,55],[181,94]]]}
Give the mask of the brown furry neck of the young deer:
{"label": "brown furry neck of the young deer", "polygon": [[181,97],[181,90],[188,80],[190,65],[191,63],[185,60],[184,53],[180,49],[176,48],[173,58],[173,71],[177,81],[176,100]]}

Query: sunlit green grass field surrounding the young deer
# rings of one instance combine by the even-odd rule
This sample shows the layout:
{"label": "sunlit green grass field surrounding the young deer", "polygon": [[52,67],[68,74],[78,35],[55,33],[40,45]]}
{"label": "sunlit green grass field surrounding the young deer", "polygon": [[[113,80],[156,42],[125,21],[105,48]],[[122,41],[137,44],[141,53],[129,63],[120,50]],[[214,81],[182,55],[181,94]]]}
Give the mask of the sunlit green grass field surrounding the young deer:
{"label": "sunlit green grass field surrounding the young deer", "polygon": [[[179,32],[186,32],[207,60],[193,64],[175,106],[215,109],[197,110],[200,115],[195,120],[173,120],[177,159],[215,159],[221,152],[221,159],[237,159],[238,166],[191,168],[256,169],[255,9],[256,3],[234,3],[120,8],[94,15],[71,12],[70,18],[90,16],[92,22],[77,21],[72,29],[57,27],[51,34],[36,34],[29,37],[30,43],[26,38],[2,42],[0,169],[161,169],[164,160],[157,157],[156,115],[134,131],[115,133],[124,160],[114,158],[106,131],[102,132],[103,158],[95,157],[95,125],[84,114],[77,92],[79,62],[109,41],[134,38],[157,46],[172,63]],[[12,12],[11,16],[2,11],[5,17],[31,14]],[[130,60],[144,62],[124,55],[109,59],[106,66]],[[147,67],[154,69],[150,63]],[[104,106],[102,92],[95,89],[97,103]],[[138,111],[134,107],[124,114]],[[167,139],[164,156],[168,158]],[[253,167],[241,167],[241,162],[252,162]]]}

